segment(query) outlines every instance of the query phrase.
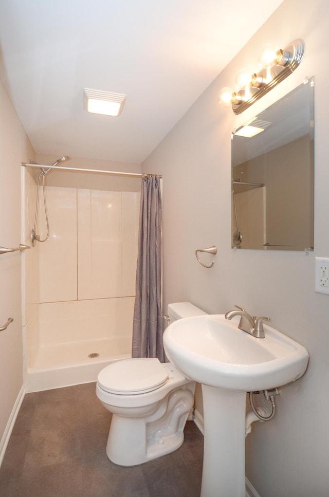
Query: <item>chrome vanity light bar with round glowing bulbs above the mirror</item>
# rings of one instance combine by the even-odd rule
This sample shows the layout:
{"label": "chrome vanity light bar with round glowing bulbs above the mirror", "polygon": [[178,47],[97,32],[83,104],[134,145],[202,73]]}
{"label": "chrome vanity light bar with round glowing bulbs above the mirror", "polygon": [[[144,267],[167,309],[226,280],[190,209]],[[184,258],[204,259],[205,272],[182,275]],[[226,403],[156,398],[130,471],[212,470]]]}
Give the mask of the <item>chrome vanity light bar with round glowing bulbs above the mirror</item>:
{"label": "chrome vanity light bar with round glowing bulbs above the mirror", "polygon": [[[241,114],[294,72],[302,61],[304,51],[305,44],[301,39],[291,42],[284,49],[265,47],[260,53],[262,69],[249,76],[247,83],[244,82],[237,91],[229,87],[222,88],[218,103],[232,105],[234,114]],[[240,76],[239,80],[243,78]]]}

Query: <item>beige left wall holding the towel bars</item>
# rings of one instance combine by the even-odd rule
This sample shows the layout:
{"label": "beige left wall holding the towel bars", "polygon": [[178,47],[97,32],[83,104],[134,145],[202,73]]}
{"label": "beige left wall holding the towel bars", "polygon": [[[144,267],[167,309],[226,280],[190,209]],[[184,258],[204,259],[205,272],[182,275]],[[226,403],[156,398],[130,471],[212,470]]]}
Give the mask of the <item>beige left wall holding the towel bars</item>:
{"label": "beige left wall holding the towel bars", "polygon": [[[18,247],[21,238],[21,161],[33,157],[23,127],[0,82],[0,245]],[[0,255],[0,453],[6,427],[23,385],[20,252]]]}

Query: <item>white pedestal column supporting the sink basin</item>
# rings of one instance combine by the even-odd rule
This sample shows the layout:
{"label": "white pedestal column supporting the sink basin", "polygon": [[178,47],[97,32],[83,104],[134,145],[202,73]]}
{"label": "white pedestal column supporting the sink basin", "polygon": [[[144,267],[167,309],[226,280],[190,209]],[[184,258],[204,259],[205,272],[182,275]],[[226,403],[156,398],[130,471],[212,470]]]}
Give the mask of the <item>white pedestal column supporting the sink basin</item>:
{"label": "white pedestal column supporting the sink basin", "polygon": [[202,385],[205,450],[201,497],[245,497],[246,392]]}

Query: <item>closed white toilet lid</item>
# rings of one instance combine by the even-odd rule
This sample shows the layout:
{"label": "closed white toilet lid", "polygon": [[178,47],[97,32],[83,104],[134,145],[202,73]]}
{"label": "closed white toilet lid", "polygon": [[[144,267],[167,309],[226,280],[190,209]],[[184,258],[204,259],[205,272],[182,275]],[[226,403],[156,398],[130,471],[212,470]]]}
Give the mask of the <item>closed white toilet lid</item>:
{"label": "closed white toilet lid", "polygon": [[98,384],[110,393],[136,395],[160,388],[167,379],[167,370],[158,359],[135,358],[104,367],[98,375]]}

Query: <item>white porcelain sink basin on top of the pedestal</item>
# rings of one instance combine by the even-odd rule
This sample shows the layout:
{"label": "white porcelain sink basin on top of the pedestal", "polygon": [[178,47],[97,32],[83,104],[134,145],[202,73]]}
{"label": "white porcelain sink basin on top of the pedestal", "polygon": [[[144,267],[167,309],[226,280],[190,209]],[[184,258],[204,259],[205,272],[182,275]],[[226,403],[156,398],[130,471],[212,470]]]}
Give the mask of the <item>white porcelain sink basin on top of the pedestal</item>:
{"label": "white porcelain sink basin on top of the pedestal", "polygon": [[163,334],[167,357],[199,383],[244,392],[275,388],[305,373],[302,345],[265,324],[265,338],[255,338],[237,327],[239,320],[208,315],[175,321]]}

